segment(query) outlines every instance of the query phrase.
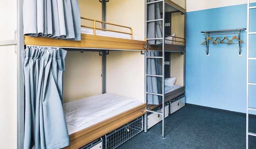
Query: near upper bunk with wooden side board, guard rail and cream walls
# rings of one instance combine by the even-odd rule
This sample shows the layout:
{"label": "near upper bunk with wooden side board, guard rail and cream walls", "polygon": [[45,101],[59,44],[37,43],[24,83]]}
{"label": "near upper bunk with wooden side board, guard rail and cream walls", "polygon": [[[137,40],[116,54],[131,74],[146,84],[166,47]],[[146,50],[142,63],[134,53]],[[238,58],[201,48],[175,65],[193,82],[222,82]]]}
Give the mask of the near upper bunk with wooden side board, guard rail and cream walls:
{"label": "near upper bunk with wooden side board, guard rail and cream walls", "polygon": [[[132,13],[133,10],[119,10],[124,8],[123,5],[125,3],[111,0],[107,3],[107,8],[105,8],[105,11],[107,11],[107,17],[105,17],[107,22],[104,22],[100,21],[103,20],[103,9],[99,1],[78,0],[78,3],[81,16],[81,41],[24,36],[24,45],[56,46],[70,49],[145,51],[146,41],[144,41],[144,32],[140,31],[144,29],[143,10],[137,13]],[[144,2],[141,4],[144,6]],[[120,15],[117,12],[120,12]],[[127,13],[124,14],[124,12]],[[137,16],[139,19],[142,18],[140,22],[134,19]],[[106,28],[103,28],[103,25]],[[133,35],[136,35],[138,38]]]}

